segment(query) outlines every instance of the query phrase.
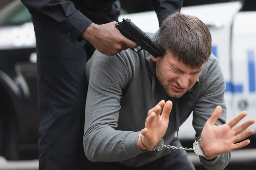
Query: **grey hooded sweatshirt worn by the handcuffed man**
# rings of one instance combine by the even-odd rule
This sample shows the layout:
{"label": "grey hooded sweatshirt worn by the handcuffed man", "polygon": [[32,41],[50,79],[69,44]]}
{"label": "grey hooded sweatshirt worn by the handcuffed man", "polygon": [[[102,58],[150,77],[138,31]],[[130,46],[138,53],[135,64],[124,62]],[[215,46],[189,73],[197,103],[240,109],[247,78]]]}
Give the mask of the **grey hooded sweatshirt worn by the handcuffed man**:
{"label": "grey hooded sweatshirt worn by the handcuffed man", "polygon": [[[149,34],[154,40],[156,35]],[[162,99],[173,102],[169,126],[163,136],[165,144],[172,142],[175,132],[192,112],[195,140],[200,138],[205,122],[217,105],[222,107],[222,113],[215,125],[226,123],[226,85],[213,55],[196,84],[180,98],[166,94],[157,80],[155,63],[145,50],[137,54],[127,49],[113,57],[96,51],[87,62],[86,75],[89,87],[83,142],[90,161],[115,161],[139,167],[171,153],[167,148],[142,151],[137,145],[148,110]],[[230,161],[230,153],[218,155],[212,161],[200,156],[200,161],[209,170],[223,170]]]}

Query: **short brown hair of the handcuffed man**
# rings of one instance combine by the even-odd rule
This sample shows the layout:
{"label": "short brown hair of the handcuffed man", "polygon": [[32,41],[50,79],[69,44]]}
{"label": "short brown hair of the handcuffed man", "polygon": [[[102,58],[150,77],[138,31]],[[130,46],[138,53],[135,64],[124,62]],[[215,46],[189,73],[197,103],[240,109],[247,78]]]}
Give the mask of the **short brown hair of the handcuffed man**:
{"label": "short brown hair of the handcuffed man", "polygon": [[212,37],[207,26],[197,17],[180,14],[180,11],[163,21],[157,42],[167,53],[171,52],[192,68],[200,68],[212,51]]}

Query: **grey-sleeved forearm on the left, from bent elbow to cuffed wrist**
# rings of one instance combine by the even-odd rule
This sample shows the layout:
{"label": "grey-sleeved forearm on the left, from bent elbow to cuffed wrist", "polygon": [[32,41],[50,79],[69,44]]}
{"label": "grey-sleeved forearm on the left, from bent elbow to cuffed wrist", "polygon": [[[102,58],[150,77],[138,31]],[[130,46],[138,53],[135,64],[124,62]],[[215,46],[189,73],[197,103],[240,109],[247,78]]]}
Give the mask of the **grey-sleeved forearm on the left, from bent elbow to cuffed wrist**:
{"label": "grey-sleeved forearm on the left, from bent elbow to cuffed wrist", "polygon": [[84,133],[84,152],[90,161],[123,161],[140,150],[137,139],[140,132],[114,130],[108,125],[98,125]]}

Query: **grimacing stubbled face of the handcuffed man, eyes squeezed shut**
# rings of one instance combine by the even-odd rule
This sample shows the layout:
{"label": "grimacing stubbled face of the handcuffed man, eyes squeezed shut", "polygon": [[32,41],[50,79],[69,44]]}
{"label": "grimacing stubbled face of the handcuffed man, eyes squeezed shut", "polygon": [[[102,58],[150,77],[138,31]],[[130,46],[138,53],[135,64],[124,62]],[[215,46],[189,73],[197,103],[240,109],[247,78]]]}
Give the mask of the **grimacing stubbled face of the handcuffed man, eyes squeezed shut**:
{"label": "grimacing stubbled face of the handcuffed man, eyes squeezed shut", "polygon": [[195,85],[204,65],[200,68],[191,68],[178,61],[172,53],[151,59],[156,62],[157,79],[170,97],[179,98]]}

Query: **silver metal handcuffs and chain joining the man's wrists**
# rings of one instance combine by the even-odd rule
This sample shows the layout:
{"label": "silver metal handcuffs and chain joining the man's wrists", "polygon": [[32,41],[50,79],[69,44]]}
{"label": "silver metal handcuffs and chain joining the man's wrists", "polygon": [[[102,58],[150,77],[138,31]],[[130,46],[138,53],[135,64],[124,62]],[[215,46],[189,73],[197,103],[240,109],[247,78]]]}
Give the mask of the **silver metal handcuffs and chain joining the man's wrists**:
{"label": "silver metal handcuffs and chain joining the man's wrists", "polygon": [[193,148],[187,148],[187,147],[177,147],[177,146],[170,146],[170,145],[166,145],[164,144],[164,140],[163,138],[160,139],[160,141],[153,147],[153,148],[148,148],[145,146],[145,144],[142,141],[142,134],[140,133],[139,135],[139,141],[140,144],[146,149],[146,150],[162,150],[164,147],[168,148],[168,149],[180,149],[180,150],[193,150],[195,152],[195,155],[197,156],[203,156],[206,159],[214,159],[215,157],[208,157],[204,154],[203,150],[202,150],[202,146],[201,146],[201,140],[199,139],[198,141],[195,141],[193,143]]}

